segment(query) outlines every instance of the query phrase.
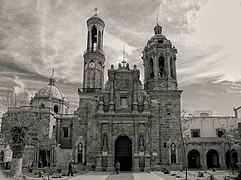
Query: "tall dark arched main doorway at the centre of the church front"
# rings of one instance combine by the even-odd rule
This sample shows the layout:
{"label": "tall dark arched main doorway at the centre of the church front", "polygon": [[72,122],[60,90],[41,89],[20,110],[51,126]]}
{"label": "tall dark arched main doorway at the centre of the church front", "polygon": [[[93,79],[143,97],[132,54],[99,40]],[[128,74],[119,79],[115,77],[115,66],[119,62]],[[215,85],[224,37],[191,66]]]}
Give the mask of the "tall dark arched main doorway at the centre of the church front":
{"label": "tall dark arched main doorway at the centre of the church front", "polygon": [[121,171],[131,171],[132,142],[127,136],[120,136],[115,141],[115,162],[119,161]]}

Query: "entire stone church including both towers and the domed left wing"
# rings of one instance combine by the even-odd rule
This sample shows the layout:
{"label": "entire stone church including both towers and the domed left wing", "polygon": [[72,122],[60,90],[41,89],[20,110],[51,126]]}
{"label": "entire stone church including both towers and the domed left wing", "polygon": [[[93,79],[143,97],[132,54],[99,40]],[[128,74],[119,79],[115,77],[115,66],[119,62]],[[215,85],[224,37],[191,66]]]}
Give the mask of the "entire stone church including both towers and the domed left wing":
{"label": "entire stone church including both towers and the domed left wing", "polygon": [[48,153],[32,147],[24,162],[31,159],[31,165],[40,167],[50,159],[51,166],[66,167],[73,159],[77,168],[98,171],[113,171],[117,161],[127,171],[181,169],[182,91],[177,85],[176,48],[157,24],[143,50],[144,85],[137,66],[124,60],[111,65],[104,84],[104,28],[97,14],[87,20],[83,88],[74,114],[68,114],[69,102],[54,78],[31,99],[30,107],[46,109],[49,137],[56,145]]}

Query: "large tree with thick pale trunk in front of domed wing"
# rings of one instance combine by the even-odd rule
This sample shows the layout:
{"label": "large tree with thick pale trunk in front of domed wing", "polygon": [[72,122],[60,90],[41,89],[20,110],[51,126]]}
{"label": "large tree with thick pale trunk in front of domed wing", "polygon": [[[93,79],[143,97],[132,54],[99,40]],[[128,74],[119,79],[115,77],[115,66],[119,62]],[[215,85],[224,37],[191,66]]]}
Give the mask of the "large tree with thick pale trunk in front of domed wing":
{"label": "large tree with thick pale trunk in front of domed wing", "polygon": [[26,145],[33,141],[33,129],[39,133],[43,126],[44,114],[42,109],[29,106],[28,92],[16,94],[9,89],[1,98],[5,107],[2,117],[1,132],[13,155],[10,174],[22,176],[23,154]]}

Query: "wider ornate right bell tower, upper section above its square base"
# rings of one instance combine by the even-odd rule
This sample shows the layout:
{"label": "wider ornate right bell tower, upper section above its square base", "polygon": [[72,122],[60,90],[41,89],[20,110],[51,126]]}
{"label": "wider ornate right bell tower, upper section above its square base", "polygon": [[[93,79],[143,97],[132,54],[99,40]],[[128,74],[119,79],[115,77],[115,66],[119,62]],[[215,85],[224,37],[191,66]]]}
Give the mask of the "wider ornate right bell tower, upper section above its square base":
{"label": "wider ornate right bell tower, upper section above its square base", "polygon": [[154,33],[142,51],[145,68],[144,87],[146,90],[176,90],[177,49],[162,34],[162,27],[158,23]]}

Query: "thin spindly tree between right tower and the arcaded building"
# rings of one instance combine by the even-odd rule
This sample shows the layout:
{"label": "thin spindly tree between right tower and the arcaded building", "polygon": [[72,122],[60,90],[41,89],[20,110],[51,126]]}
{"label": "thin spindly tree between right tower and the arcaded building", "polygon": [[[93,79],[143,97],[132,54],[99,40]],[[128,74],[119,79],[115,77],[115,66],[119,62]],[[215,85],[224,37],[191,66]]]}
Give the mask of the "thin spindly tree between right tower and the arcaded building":
{"label": "thin spindly tree between right tower and the arcaded building", "polygon": [[184,169],[185,169],[185,179],[187,180],[187,171],[188,171],[188,164],[187,164],[187,138],[189,137],[189,126],[193,121],[193,115],[187,114],[185,110],[182,110],[181,120],[179,121],[179,128],[181,132],[181,141],[183,145],[183,162],[184,162]]}

